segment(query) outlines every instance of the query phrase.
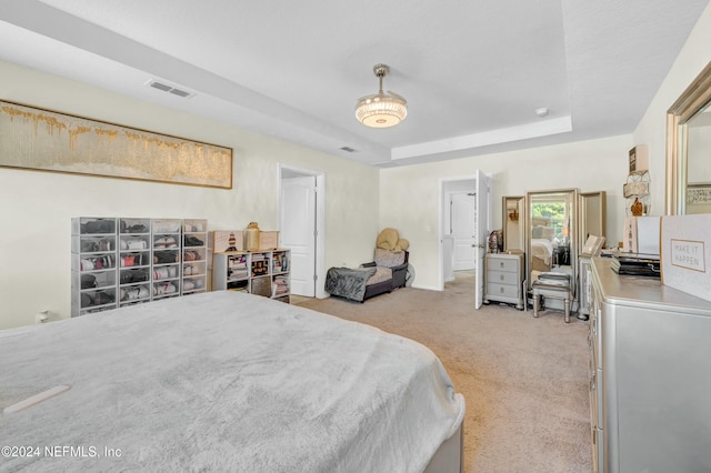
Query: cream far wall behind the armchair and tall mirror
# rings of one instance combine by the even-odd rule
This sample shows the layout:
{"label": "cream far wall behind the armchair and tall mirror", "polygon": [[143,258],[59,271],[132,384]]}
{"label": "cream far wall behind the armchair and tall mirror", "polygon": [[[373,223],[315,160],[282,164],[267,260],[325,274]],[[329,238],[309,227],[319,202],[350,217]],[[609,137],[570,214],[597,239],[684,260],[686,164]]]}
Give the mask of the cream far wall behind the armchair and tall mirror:
{"label": "cream far wall behind the armchair and tall mirror", "polygon": [[380,173],[380,227],[393,227],[410,241],[413,286],[441,289],[439,262],[440,182],[471,177],[477,169],[492,174],[493,227],[501,228],[501,198],[527,191],[578,188],[605,191],[608,239],[622,235],[625,200],[622,185],[628,173],[632,135],[534,148],[437,163],[383,169]]}

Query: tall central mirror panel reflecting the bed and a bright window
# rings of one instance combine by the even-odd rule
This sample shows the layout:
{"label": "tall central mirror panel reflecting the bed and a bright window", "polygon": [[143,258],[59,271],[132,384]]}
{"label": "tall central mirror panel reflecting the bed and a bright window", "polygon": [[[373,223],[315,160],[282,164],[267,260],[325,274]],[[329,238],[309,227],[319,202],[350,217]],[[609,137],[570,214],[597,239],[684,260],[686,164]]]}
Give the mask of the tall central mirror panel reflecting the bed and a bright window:
{"label": "tall central mirror panel reflecting the bed and a bright window", "polygon": [[578,189],[527,192],[525,202],[529,289],[541,272],[567,273],[574,282],[579,251]]}

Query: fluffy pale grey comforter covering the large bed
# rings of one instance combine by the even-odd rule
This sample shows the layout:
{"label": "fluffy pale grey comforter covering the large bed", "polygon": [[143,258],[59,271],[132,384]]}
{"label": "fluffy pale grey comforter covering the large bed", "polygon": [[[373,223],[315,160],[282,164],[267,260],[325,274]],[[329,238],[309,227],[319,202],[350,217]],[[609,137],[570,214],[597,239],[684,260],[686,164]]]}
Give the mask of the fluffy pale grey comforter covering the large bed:
{"label": "fluffy pale grey comforter covering the large bed", "polygon": [[0,407],[57,385],[0,471],[418,472],[464,413],[427,348],[227,291],[0,332]]}

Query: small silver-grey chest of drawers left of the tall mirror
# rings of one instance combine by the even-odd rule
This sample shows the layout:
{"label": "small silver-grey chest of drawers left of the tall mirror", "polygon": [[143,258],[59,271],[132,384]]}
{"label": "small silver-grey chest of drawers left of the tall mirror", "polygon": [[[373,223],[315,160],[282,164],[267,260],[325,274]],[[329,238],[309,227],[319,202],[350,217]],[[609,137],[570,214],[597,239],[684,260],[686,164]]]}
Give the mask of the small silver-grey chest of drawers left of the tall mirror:
{"label": "small silver-grey chest of drawers left of the tall mirror", "polygon": [[487,253],[484,303],[508,302],[523,310],[523,254]]}

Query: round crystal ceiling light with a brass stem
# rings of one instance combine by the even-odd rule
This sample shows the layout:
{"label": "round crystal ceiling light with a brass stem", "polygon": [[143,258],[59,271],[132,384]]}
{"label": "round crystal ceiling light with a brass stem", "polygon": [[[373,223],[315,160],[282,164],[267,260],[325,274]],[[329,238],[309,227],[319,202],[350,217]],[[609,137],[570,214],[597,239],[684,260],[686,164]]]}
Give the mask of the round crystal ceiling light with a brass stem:
{"label": "round crystal ceiling light with a brass stem", "polygon": [[380,81],[380,90],[375,94],[367,95],[358,100],[356,104],[356,118],[365,127],[394,127],[408,115],[408,102],[390,90],[388,93],[382,91],[382,78],[390,72],[388,66],[375,64],[373,72]]}

